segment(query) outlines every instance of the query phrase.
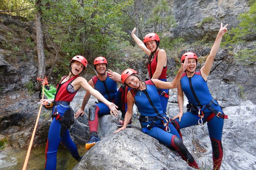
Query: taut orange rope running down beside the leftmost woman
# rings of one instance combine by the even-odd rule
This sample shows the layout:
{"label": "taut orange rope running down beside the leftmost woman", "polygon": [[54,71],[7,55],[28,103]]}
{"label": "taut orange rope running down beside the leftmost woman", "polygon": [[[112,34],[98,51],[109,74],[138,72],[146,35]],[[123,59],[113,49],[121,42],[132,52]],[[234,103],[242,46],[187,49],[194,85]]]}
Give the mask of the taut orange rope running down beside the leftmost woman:
{"label": "taut orange rope running down beside the leftmost woman", "polygon": [[[45,78],[45,79],[38,79],[37,78],[37,80],[42,81],[42,85],[43,85],[43,96],[42,96],[42,99],[43,99],[43,97],[44,97],[44,85],[48,85],[48,81],[47,81],[47,78]],[[36,133],[36,128],[37,128],[37,124],[38,124],[38,121],[39,121],[39,117],[40,117],[40,112],[41,112],[42,106],[43,106],[43,104],[41,104],[41,106],[39,108],[39,111],[38,111],[36,124],[34,126],[33,134],[32,134],[31,140],[30,140],[30,145],[28,146],[28,151],[27,151],[26,159],[25,159],[25,162],[23,164],[22,170],[26,170],[27,169],[28,158],[30,156],[30,151],[31,151],[31,148],[32,148],[33,140],[34,140],[34,135]]]}

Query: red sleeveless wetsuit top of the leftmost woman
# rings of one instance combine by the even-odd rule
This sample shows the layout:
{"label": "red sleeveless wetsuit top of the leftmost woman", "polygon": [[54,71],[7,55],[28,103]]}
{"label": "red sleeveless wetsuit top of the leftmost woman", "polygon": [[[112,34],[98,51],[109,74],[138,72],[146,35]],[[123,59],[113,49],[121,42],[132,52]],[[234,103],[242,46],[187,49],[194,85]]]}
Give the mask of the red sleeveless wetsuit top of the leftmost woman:
{"label": "red sleeveless wetsuit top of the leftmost woman", "polygon": [[74,90],[74,87],[71,85],[71,83],[77,78],[79,77],[79,75],[76,75],[75,77],[70,78],[68,81],[61,83],[66,77],[65,76],[62,78],[62,80],[60,80],[60,83],[57,86],[57,92],[54,98],[54,101],[66,101],[66,102],[71,102],[73,100],[73,98],[76,95],[76,92],[78,92],[78,90]]}

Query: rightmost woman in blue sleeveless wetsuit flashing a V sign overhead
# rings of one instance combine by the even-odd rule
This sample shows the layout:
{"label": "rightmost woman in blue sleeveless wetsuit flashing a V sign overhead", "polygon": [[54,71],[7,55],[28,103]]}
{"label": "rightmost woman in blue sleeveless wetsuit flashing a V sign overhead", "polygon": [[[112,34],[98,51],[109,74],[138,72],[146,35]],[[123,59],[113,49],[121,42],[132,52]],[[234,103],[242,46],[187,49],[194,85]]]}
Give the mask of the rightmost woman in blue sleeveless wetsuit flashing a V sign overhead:
{"label": "rightmost woman in blue sleeveless wetsuit flashing a V sign overhead", "polygon": [[[178,90],[178,106],[180,112],[174,116],[175,127],[179,129],[190,127],[197,124],[203,124],[207,121],[210,141],[212,143],[213,169],[219,170],[223,158],[222,149],[222,129],[224,119],[227,119],[219,106],[209,92],[207,78],[212,69],[212,64],[216,53],[218,52],[222,37],[227,31],[228,24],[224,27],[221,23],[219,33],[212,46],[209,56],[204,66],[196,71],[197,55],[193,52],[186,52],[181,57],[183,63],[188,58],[186,72],[182,74]],[[183,92],[185,93],[188,103],[187,112],[183,113]],[[181,136],[181,134],[180,134]]]}

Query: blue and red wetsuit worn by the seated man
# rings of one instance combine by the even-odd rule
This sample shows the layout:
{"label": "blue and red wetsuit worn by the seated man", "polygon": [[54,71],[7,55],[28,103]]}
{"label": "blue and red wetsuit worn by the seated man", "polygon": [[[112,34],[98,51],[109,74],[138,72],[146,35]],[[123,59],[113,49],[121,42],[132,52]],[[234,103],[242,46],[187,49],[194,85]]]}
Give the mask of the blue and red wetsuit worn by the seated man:
{"label": "blue and red wetsuit worn by the seated man", "polygon": [[[109,76],[109,75],[108,75]],[[117,83],[107,76],[106,80],[101,81],[97,76],[92,78],[94,83],[94,89],[99,91],[102,96],[104,96],[108,101],[113,102],[118,106],[118,109],[123,112],[125,110],[124,106],[124,91],[125,86],[121,86],[117,90]],[[98,104],[91,106],[89,108],[89,129],[90,132],[97,132],[98,128],[98,117],[110,114],[110,109],[108,106],[101,101]]]}

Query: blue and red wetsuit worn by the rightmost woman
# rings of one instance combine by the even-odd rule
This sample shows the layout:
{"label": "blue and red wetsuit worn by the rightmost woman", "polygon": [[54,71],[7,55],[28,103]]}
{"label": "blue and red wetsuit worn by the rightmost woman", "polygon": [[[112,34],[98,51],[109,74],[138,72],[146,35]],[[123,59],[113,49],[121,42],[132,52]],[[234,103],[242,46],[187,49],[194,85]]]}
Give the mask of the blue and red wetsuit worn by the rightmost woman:
{"label": "blue and red wetsuit worn by the rightmost woman", "polygon": [[[214,114],[205,106],[213,101],[212,108],[223,114],[222,108],[213,99],[212,95],[210,95],[207,81],[203,79],[200,71],[196,71],[193,77],[187,77],[186,73],[183,73],[180,82],[182,91],[185,93],[188,102],[197,108],[201,108],[201,111],[204,113],[203,122],[207,121],[213,149],[213,169],[219,169],[223,158],[222,129],[224,119],[217,116],[212,117]],[[175,123],[178,125],[178,129],[182,129],[197,125],[198,119],[200,119],[198,111],[186,112],[183,114],[181,121],[179,122],[177,118],[175,119]]]}

